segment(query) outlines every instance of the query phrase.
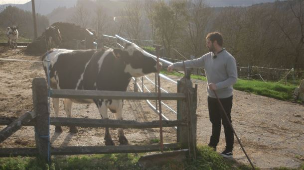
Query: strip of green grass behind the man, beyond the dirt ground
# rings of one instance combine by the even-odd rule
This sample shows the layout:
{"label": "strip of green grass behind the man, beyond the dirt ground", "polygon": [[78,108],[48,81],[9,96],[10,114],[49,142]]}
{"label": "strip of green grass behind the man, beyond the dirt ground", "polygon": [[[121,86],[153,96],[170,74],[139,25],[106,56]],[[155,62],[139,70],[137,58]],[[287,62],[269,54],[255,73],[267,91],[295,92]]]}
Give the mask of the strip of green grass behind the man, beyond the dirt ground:
{"label": "strip of green grass behind the man, beyond the dirt ground", "polygon": [[[166,71],[161,71],[161,73],[165,74],[165,75],[174,75],[174,76],[178,76],[178,77],[183,77],[183,74],[180,74],[177,72],[167,73]],[[205,77],[196,76],[196,75],[191,75],[191,79],[207,81]],[[240,91],[251,92],[251,93],[254,93],[257,95],[263,95],[263,96],[267,96],[267,97],[276,98],[279,100],[294,101],[292,94],[293,94],[295,88],[299,84],[294,85],[289,82],[286,85],[284,85],[284,83],[238,79],[237,83],[235,85],[233,85],[233,88],[240,90]],[[298,101],[298,102],[301,102],[301,101]]]}

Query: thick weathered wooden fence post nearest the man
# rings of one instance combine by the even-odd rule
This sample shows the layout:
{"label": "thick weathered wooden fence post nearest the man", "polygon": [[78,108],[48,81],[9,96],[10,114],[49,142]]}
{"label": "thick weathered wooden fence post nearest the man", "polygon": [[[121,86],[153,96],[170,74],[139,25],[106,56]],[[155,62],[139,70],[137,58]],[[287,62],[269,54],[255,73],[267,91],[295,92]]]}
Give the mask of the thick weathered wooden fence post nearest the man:
{"label": "thick weathered wooden fence post nearest the man", "polygon": [[195,158],[196,153],[196,104],[197,104],[197,85],[192,87],[190,81],[191,71],[185,71],[185,76],[177,81],[177,92],[185,93],[187,100],[177,101],[177,120],[186,119],[188,126],[177,127],[177,142],[184,148],[189,148],[189,155]]}

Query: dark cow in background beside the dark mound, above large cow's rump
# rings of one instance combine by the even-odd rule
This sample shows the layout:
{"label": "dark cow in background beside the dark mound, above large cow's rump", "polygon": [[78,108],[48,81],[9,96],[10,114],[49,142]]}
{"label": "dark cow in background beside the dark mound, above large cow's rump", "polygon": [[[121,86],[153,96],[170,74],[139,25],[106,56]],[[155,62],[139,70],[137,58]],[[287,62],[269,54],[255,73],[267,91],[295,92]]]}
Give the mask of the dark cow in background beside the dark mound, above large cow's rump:
{"label": "dark cow in background beside the dark mound, above large cow's rump", "polygon": [[47,50],[51,48],[57,48],[61,43],[61,34],[59,28],[55,25],[52,25],[45,30],[45,41]]}

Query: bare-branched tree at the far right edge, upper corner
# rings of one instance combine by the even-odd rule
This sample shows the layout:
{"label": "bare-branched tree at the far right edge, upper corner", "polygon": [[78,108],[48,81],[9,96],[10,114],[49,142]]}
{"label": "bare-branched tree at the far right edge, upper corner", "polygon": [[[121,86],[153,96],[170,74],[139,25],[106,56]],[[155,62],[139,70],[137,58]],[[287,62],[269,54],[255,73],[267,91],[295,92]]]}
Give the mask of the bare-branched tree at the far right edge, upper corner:
{"label": "bare-branched tree at the far right edge, upper corner", "polygon": [[304,2],[293,0],[284,7],[286,12],[283,13],[282,4],[279,1],[275,3],[273,21],[285,40],[283,48],[287,63],[293,65],[300,78],[301,69],[304,69]]}

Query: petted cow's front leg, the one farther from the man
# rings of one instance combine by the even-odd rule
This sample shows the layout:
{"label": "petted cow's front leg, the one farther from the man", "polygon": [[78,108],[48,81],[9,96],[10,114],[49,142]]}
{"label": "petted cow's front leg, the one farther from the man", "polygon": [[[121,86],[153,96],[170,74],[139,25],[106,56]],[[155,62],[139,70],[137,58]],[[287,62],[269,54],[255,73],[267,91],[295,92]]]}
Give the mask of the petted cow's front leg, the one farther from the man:
{"label": "petted cow's front leg, the one farther from the man", "polygon": [[[95,104],[97,105],[97,108],[98,108],[99,114],[101,115],[101,118],[102,119],[109,119],[108,107],[106,106],[106,103],[104,102],[104,100],[94,100],[94,101],[95,101]],[[105,138],[104,139],[106,140],[106,142],[105,142],[106,145],[115,145],[113,140],[112,140],[112,137],[111,137],[111,134],[110,134],[110,131],[109,131],[108,127],[105,128]]]}

